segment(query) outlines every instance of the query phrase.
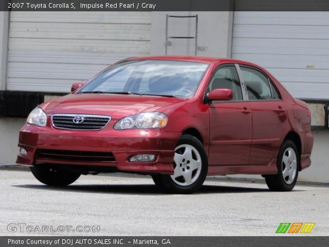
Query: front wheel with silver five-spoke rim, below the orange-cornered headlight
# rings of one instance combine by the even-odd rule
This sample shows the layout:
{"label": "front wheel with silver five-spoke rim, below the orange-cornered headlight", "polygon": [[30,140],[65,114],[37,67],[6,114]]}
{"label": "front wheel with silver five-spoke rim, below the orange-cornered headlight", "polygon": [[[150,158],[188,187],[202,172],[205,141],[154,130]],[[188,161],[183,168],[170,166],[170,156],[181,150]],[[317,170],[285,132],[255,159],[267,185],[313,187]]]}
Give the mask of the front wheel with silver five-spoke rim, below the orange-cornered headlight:
{"label": "front wheel with silver five-spoke rim, below the orange-cornered headlight", "polygon": [[208,172],[208,157],[202,143],[192,135],[182,135],[175,148],[173,166],[173,175],[153,175],[154,183],[173,193],[197,191]]}

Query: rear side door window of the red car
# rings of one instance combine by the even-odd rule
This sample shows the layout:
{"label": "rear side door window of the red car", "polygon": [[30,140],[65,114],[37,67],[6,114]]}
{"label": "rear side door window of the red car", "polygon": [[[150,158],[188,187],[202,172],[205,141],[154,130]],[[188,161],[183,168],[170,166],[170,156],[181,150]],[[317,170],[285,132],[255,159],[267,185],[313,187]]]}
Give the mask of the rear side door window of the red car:
{"label": "rear side door window of the red car", "polygon": [[271,100],[272,94],[267,77],[256,69],[242,66],[240,68],[249,100]]}

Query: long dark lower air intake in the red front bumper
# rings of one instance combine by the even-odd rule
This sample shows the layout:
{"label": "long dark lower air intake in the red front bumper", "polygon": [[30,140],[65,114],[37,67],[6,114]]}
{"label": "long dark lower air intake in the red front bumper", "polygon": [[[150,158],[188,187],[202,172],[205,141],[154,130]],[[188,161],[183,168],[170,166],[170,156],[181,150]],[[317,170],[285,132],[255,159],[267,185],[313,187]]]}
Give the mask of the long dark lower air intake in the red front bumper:
{"label": "long dark lower air intake in the red front bumper", "polygon": [[93,151],[70,151],[70,150],[53,150],[38,149],[36,151],[36,161],[81,161],[81,162],[115,162],[111,152],[93,152]]}

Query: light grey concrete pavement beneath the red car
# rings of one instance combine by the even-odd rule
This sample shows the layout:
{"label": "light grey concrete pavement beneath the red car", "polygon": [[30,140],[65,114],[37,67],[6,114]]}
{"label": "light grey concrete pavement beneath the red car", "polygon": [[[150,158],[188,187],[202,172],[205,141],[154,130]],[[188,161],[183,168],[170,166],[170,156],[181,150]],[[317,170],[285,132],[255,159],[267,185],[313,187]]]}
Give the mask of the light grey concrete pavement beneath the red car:
{"label": "light grey concrete pavement beneath the red car", "polygon": [[[0,170],[0,188],[0,235],[268,236],[280,222],[315,222],[310,235],[329,235],[328,186],[271,192],[263,182],[210,179],[193,195],[170,195],[147,176],[82,175],[68,187],[51,188],[30,172]],[[32,232],[20,232],[19,223]],[[8,232],[8,224],[16,232]],[[35,232],[41,226],[100,231]]]}

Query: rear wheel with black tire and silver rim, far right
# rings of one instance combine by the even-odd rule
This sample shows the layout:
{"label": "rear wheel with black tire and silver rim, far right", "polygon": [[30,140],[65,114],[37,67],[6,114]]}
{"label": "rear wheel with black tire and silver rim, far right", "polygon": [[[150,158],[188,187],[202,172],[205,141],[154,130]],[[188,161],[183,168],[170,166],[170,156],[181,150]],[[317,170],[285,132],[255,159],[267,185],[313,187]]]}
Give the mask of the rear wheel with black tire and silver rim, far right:
{"label": "rear wheel with black tire and silver rim, far right", "polygon": [[273,191],[293,190],[298,178],[299,159],[295,143],[285,140],[277,158],[278,174],[264,176],[268,188]]}

